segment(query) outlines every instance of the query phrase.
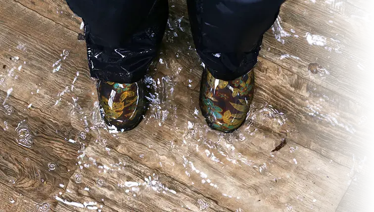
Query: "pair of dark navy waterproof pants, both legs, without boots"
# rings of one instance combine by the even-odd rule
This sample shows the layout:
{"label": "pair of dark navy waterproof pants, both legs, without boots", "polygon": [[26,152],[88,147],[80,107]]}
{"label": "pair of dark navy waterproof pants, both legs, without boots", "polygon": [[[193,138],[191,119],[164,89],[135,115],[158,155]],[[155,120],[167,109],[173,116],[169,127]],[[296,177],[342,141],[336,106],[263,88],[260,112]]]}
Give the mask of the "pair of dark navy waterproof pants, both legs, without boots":
{"label": "pair of dark navy waterproof pants, both legs, without boots", "polygon": [[[139,81],[156,57],[168,0],[66,0],[85,22],[91,76]],[[284,0],[187,0],[197,53],[211,74],[234,80],[257,63],[262,36]]]}

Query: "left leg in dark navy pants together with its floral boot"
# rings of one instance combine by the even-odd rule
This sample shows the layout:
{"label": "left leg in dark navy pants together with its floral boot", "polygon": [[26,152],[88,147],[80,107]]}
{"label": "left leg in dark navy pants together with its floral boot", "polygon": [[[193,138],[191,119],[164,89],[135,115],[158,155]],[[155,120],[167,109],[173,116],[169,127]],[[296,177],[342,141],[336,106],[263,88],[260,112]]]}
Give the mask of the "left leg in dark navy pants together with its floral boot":
{"label": "left leg in dark navy pants together with its floral boot", "polygon": [[[157,54],[167,0],[66,0],[85,22],[91,76],[110,128],[138,126],[147,104],[142,78]],[[114,127],[113,127],[114,126]]]}

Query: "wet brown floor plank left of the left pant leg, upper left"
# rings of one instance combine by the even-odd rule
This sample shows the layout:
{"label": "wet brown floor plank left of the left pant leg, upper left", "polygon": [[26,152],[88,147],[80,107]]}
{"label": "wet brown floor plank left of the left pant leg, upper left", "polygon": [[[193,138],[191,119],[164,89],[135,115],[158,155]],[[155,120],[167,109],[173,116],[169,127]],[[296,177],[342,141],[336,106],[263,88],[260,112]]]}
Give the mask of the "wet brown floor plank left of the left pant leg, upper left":
{"label": "wet brown floor plank left of the left pant leg, upper left", "polygon": [[79,116],[79,105],[92,107],[90,99],[96,99],[85,43],[77,41],[76,33],[21,4],[6,1],[2,5],[0,90],[11,89],[15,98],[57,119],[74,113],[77,116],[71,118],[80,121],[75,127],[81,127],[85,118]]}

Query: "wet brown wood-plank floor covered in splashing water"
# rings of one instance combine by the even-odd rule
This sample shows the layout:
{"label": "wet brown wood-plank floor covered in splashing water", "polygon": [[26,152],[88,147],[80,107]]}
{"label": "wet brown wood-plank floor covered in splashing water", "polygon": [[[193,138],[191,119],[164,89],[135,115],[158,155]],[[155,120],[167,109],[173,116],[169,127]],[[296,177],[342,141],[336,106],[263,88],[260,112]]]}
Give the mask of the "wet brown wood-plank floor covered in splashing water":
{"label": "wet brown wood-plank floor covered in splashing water", "polygon": [[102,124],[64,0],[0,5],[0,212],[374,211],[372,1],[287,0],[233,134],[199,113],[184,0],[170,1],[151,108],[125,133]]}

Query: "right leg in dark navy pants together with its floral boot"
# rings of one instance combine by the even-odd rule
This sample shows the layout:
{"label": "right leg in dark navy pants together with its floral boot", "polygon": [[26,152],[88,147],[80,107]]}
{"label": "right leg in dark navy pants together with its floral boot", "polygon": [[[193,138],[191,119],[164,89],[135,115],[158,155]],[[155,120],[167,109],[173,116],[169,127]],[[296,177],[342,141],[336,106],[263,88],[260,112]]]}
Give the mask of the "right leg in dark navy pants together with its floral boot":
{"label": "right leg in dark navy pants together with its floral boot", "polygon": [[262,36],[284,0],[187,0],[197,53],[205,64],[200,108],[208,125],[232,132],[247,116]]}

